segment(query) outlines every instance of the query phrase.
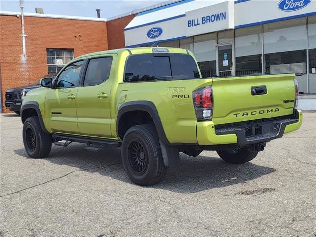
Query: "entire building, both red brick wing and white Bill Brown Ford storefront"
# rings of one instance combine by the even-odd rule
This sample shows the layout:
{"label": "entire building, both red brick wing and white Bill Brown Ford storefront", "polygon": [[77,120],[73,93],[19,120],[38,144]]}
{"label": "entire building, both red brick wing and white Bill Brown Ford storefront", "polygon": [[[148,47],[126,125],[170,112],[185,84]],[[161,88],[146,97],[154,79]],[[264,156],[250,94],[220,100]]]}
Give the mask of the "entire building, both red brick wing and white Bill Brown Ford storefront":
{"label": "entire building, both red brick wing and white Bill Brown Ford storefront", "polygon": [[[316,0],[178,0],[111,19],[0,13],[0,80],[5,89],[58,72],[73,57],[120,47],[180,47],[203,77],[295,73],[300,104],[316,110]],[[57,34],[56,34],[57,33]]]}

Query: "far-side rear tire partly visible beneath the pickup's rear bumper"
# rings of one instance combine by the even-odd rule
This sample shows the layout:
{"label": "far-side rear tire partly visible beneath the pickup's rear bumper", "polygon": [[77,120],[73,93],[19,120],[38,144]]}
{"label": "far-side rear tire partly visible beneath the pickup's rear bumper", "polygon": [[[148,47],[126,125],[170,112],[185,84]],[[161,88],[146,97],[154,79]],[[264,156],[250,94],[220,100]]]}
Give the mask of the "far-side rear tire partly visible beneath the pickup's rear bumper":
{"label": "far-side rear tire partly visible beneath the pickup's rear bumper", "polygon": [[250,151],[246,147],[216,152],[220,158],[230,164],[243,164],[249,162],[250,160],[253,160],[258,154],[258,151]]}

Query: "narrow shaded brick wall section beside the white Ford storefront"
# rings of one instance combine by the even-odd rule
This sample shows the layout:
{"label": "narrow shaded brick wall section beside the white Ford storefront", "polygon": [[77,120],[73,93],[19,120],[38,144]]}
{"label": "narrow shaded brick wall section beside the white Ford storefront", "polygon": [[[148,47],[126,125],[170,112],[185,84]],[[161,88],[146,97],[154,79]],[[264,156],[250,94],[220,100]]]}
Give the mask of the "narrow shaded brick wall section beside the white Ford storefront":
{"label": "narrow shaded brick wall section beside the white Ford storefront", "polygon": [[109,49],[125,48],[124,28],[136,15],[129,15],[107,22]]}

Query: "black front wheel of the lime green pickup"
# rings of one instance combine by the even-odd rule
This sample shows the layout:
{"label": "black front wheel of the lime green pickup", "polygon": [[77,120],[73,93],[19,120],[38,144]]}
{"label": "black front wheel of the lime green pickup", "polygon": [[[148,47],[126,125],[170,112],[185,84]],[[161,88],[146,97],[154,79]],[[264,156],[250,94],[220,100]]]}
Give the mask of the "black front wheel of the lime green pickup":
{"label": "black front wheel of the lime green pickup", "polygon": [[23,124],[23,143],[27,154],[31,158],[47,157],[51,150],[51,135],[40,127],[37,116],[29,117]]}

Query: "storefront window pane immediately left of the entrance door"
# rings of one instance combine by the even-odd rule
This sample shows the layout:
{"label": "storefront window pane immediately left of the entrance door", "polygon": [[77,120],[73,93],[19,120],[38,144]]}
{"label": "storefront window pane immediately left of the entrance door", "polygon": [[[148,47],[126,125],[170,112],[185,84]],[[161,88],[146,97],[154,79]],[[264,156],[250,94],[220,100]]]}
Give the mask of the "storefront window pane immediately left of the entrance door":
{"label": "storefront window pane immediately left of the entrance door", "polygon": [[194,36],[194,55],[202,76],[216,76],[216,33]]}

